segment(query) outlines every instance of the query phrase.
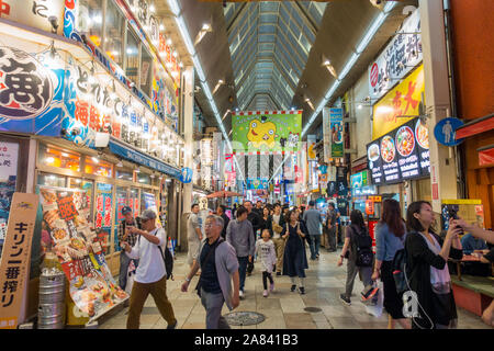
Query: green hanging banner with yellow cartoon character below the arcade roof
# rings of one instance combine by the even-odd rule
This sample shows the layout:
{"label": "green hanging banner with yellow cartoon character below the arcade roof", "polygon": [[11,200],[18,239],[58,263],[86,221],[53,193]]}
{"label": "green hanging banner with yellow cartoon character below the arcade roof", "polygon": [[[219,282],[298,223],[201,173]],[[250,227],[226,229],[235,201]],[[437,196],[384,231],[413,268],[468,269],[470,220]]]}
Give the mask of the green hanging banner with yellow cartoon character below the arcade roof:
{"label": "green hanging banner with yellow cartoon character below the arcade roof", "polygon": [[299,150],[302,111],[235,112],[232,115],[236,152]]}

